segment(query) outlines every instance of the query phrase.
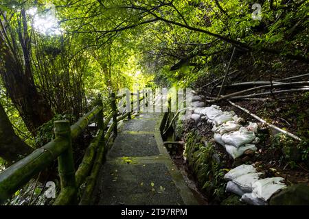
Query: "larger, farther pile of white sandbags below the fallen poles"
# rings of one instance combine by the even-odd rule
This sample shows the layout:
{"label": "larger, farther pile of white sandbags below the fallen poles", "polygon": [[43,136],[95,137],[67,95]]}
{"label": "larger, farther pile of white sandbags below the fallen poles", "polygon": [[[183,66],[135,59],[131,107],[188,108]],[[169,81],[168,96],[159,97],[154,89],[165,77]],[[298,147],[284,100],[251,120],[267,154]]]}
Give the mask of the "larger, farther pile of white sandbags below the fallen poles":
{"label": "larger, farther pile of white sandbags below the fallen poles", "polygon": [[243,119],[233,111],[222,112],[218,105],[196,107],[191,118],[196,123],[205,118],[207,123],[213,124],[211,131],[214,131],[214,140],[224,146],[233,159],[240,157],[244,151],[257,150],[255,143],[258,142],[258,138],[255,137],[255,133],[258,132],[258,125],[249,123],[247,127],[242,127],[239,123]]}

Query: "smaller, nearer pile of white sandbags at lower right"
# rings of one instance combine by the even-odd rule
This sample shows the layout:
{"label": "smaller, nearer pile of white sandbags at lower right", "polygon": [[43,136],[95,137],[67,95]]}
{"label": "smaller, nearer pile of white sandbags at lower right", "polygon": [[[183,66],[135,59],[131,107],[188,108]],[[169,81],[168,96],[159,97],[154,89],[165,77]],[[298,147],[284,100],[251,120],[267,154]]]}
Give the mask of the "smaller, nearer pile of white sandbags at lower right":
{"label": "smaller, nearer pile of white sandbags at lower right", "polygon": [[240,201],[249,205],[268,205],[273,194],[286,188],[282,177],[260,179],[262,172],[258,172],[253,165],[242,164],[233,168],[225,175],[227,192],[241,196]]}

